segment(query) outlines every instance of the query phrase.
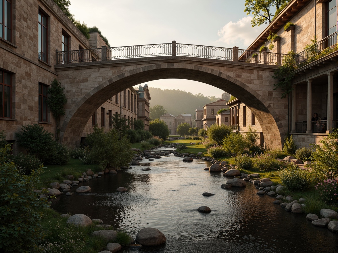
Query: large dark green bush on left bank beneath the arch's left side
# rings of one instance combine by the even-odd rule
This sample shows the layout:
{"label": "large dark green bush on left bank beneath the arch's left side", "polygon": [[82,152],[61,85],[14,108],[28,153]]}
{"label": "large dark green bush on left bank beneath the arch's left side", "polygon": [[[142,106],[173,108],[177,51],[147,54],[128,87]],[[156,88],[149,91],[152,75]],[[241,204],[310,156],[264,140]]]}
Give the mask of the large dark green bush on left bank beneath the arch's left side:
{"label": "large dark green bush on left bank beneath the arch's left side", "polygon": [[121,138],[116,129],[105,133],[102,128],[95,126],[86,140],[90,147],[89,160],[98,164],[101,169],[127,165],[133,157],[127,135]]}

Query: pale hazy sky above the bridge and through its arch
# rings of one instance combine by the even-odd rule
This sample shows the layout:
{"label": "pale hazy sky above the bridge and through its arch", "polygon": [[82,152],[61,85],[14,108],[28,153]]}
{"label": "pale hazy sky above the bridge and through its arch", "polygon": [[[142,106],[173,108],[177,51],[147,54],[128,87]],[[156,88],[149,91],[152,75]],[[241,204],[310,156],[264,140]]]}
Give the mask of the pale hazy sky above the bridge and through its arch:
{"label": "pale hazy sky above the bridge and through its arch", "polygon": [[[245,0],[71,0],[69,10],[97,26],[111,47],[177,43],[246,49],[266,25],[251,27]],[[148,87],[220,97],[222,90],[183,79],[147,82]]]}

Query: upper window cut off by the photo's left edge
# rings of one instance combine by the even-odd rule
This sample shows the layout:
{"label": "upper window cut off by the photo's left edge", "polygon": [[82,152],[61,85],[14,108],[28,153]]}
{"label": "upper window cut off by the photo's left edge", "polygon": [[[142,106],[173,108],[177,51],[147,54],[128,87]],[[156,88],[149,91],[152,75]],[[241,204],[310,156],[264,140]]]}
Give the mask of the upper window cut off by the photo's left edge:
{"label": "upper window cut off by the photo's left edge", "polygon": [[11,41],[11,1],[0,0],[0,37]]}

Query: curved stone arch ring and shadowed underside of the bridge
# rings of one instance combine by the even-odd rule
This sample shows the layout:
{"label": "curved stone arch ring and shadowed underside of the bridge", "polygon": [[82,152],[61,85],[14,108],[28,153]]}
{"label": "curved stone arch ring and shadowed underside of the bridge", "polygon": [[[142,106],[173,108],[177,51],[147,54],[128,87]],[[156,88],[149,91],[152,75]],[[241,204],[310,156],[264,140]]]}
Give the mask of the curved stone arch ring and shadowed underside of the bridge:
{"label": "curved stone arch ring and shadowed underside of the bridge", "polygon": [[282,146],[283,124],[264,97],[222,71],[187,63],[159,63],[139,67],[98,84],[76,103],[64,119],[61,128],[63,143],[69,146],[78,145],[90,116],[110,97],[140,83],[167,78],[198,81],[234,95],[246,104],[261,124],[266,146],[271,148]]}

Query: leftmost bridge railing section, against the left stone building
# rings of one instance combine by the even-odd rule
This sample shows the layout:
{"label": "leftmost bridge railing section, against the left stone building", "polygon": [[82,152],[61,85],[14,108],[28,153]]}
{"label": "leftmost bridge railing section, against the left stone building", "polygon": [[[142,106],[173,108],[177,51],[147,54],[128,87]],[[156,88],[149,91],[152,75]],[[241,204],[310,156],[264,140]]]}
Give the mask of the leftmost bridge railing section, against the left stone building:
{"label": "leftmost bridge railing section, against the left stone building", "polygon": [[101,61],[101,48],[57,52],[57,64]]}

